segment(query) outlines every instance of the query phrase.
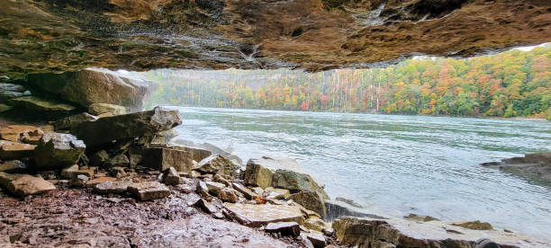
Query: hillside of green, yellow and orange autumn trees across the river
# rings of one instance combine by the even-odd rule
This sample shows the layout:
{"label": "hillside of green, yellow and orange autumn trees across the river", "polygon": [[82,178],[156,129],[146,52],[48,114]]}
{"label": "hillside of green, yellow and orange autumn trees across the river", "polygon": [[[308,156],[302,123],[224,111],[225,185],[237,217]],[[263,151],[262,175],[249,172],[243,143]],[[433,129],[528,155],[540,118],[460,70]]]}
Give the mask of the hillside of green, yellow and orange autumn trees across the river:
{"label": "hillside of green, yellow and orange autumn trees across the river", "polygon": [[152,105],[551,119],[549,44],[469,59],[416,58],[382,69],[145,76],[159,84]]}

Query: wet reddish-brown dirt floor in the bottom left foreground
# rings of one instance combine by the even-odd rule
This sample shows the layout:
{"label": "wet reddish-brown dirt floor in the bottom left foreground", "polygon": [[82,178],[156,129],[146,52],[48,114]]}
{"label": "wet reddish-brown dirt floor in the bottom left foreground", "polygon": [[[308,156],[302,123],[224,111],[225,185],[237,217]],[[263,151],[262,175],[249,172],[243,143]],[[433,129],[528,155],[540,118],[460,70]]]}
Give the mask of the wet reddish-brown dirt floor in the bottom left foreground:
{"label": "wet reddish-brown dirt floor in the bottom left foreground", "polygon": [[[301,247],[189,207],[199,196],[176,194],[136,202],[61,188],[14,199],[0,192],[0,246],[12,247]],[[5,247],[5,246],[3,246]]]}

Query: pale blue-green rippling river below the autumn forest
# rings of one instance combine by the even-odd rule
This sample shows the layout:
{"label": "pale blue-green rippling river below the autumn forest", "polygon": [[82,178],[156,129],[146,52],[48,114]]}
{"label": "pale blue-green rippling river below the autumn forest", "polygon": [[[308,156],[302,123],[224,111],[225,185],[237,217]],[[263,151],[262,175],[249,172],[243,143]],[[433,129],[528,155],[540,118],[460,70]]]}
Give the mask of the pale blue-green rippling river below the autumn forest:
{"label": "pale blue-green rippling river below the autumn forest", "polygon": [[295,158],[331,198],[383,216],[490,222],[551,236],[551,186],[480,163],[551,151],[551,122],[170,107],[173,140],[208,142],[246,162]]}

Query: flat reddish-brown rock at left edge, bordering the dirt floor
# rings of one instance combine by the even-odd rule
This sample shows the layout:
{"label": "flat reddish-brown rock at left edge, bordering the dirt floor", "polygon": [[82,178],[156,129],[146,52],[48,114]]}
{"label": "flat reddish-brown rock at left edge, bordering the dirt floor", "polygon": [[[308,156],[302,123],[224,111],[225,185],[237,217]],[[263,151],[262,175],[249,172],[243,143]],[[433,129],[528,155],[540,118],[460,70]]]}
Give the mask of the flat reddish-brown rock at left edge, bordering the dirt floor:
{"label": "flat reddish-brown rock at left edge, bordering the dirt floor", "polygon": [[56,189],[56,186],[41,177],[35,177],[28,174],[8,174],[1,172],[0,185],[18,196],[41,194]]}

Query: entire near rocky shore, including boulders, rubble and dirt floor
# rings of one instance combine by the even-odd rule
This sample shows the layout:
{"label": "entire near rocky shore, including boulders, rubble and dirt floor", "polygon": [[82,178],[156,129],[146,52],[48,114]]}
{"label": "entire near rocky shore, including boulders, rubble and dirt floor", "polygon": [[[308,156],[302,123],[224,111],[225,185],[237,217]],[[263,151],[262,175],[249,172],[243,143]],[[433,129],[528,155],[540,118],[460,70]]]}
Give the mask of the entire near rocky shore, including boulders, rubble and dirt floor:
{"label": "entire near rocky shore, including boulders, rubble and dirt floor", "polygon": [[[70,110],[60,111],[46,93],[0,85],[12,116],[31,109],[52,120],[0,118],[2,247],[551,246],[477,221],[370,214],[353,200],[330,199],[291,158],[243,164],[212,145],[173,146],[178,111],[136,111],[149,95],[147,82],[101,70],[80,74],[94,80],[50,92],[72,102]],[[50,76],[31,78],[55,81]],[[111,84],[118,90],[86,94]],[[14,101],[29,96],[40,101]]]}

